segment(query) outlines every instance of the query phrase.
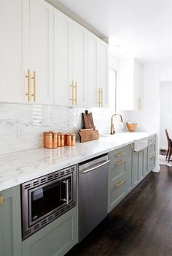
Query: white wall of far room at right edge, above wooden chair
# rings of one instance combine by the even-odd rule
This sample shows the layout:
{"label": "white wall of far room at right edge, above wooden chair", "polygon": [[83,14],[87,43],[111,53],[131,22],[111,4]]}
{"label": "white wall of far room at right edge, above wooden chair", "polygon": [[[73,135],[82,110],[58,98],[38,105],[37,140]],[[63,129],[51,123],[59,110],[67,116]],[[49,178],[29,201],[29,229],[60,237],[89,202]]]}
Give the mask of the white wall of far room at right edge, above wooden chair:
{"label": "white wall of far room at right edge, above wooden chair", "polygon": [[165,129],[172,138],[172,82],[160,83],[160,148],[167,149]]}

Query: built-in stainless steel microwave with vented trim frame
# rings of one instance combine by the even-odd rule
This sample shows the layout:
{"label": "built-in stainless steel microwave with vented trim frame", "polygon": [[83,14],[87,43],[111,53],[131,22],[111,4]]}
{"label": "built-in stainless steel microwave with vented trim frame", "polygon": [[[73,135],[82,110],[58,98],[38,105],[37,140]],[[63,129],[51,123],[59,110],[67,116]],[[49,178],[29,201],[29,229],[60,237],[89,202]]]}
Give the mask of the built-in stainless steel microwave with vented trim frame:
{"label": "built-in stainless steel microwave with vented trim frame", "polygon": [[21,184],[23,239],[76,206],[76,165]]}

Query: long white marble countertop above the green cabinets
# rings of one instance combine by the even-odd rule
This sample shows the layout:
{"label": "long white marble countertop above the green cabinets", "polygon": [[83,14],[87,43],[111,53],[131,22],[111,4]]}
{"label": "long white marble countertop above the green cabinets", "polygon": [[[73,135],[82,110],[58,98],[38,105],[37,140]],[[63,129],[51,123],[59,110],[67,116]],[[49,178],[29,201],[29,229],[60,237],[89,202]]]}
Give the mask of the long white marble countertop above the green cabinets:
{"label": "long white marble countertop above the green cabinets", "polygon": [[74,147],[36,148],[0,155],[0,191],[44,176],[56,170],[97,157],[154,134],[123,132],[103,135],[99,140],[77,143]]}

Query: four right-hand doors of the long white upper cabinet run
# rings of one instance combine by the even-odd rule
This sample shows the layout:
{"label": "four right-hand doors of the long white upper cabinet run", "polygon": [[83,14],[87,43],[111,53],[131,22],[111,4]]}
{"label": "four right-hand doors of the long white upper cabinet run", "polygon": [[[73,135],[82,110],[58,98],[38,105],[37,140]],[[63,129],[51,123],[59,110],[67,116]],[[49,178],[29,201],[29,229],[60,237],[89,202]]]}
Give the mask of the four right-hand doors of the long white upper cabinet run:
{"label": "four right-hand doors of the long white upper cabinet run", "polygon": [[55,10],[55,105],[107,107],[108,45]]}

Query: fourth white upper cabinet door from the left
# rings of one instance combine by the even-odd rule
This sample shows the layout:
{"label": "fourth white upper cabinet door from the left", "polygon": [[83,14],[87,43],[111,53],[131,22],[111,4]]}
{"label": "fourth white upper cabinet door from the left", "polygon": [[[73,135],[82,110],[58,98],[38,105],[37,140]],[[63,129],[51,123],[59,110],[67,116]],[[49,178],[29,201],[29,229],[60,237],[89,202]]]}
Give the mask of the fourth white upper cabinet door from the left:
{"label": "fourth white upper cabinet door from the left", "polygon": [[74,22],[73,79],[74,105],[86,106],[86,29]]}

